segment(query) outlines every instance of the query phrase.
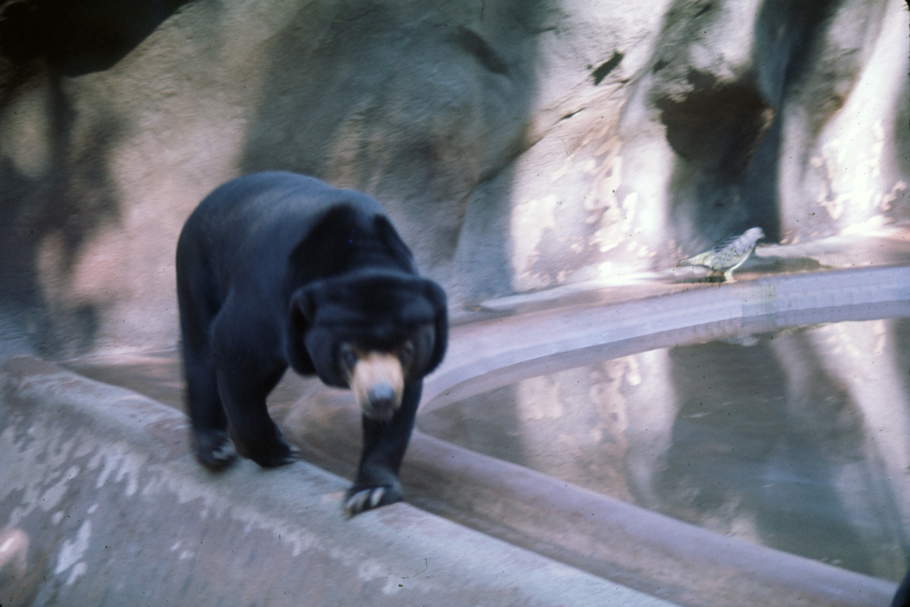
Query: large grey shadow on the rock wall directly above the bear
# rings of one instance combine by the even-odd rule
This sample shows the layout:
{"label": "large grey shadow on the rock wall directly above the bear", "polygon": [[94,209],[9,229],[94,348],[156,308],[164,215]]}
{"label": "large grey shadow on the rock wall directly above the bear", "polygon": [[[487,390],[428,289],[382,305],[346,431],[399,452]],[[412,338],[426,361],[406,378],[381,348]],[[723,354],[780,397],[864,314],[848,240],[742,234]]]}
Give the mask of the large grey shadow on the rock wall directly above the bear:
{"label": "large grey shadow on the rock wall directly above the bear", "polygon": [[[288,169],[365,191],[420,268],[459,291],[453,301],[501,290],[509,237],[490,227],[509,225],[507,173],[525,145],[544,4],[305,5],[269,51],[242,171]],[[467,253],[480,279],[460,280],[459,249],[481,240],[482,259]]]}

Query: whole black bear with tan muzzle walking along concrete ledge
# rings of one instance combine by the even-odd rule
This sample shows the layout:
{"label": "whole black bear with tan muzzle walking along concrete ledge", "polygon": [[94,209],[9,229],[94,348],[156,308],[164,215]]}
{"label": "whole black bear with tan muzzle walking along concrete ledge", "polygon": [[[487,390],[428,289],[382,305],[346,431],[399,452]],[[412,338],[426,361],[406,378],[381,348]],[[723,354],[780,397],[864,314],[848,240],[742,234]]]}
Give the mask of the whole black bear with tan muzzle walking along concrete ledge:
{"label": "whole black bear with tan muzzle walking along concrete ledge", "polygon": [[[290,366],[353,390],[363,419],[350,516],[401,499],[423,377],[445,354],[445,292],[371,197],[268,172],[209,194],[177,241],[187,408],[198,460],[295,459],[266,397]],[[229,438],[228,438],[229,437]]]}

